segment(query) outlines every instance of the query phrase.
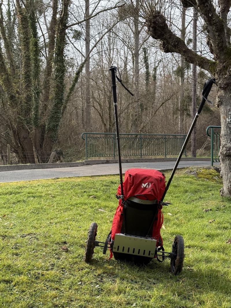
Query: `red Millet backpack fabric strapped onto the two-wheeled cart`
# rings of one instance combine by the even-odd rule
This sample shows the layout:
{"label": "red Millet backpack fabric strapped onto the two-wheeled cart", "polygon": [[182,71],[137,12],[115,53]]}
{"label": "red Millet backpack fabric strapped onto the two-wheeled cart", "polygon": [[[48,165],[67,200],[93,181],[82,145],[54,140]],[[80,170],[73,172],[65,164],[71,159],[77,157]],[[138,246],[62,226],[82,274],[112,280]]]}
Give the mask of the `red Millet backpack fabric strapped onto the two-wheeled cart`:
{"label": "red Millet backpack fabric strapped onto the two-wheeled cart", "polygon": [[[163,224],[162,205],[159,204],[165,189],[165,176],[155,169],[128,169],[124,176],[124,203],[128,198],[138,198],[140,200],[156,201],[151,206],[158,205],[158,212],[153,223],[152,237],[157,242],[156,246],[162,246],[163,241],[160,235],[160,229]],[[117,189],[117,196],[121,194],[120,185]],[[132,197],[132,198],[131,198]],[[129,199],[129,200],[130,200]],[[141,201],[142,202],[142,201]],[[142,207],[142,204],[140,204]],[[115,215],[111,227],[111,240],[114,240],[115,234],[121,232],[123,224],[123,208],[122,199],[119,199],[119,206],[115,211]]]}

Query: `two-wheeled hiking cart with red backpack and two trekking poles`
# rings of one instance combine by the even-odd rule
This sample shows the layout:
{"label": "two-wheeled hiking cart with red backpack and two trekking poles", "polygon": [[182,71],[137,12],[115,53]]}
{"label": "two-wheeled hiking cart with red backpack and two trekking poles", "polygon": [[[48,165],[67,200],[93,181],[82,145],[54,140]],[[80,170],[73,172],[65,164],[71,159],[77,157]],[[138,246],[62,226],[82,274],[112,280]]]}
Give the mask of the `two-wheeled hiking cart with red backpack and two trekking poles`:
{"label": "two-wheeled hiking cart with red backpack and two trekking poles", "polygon": [[115,108],[115,128],[118,148],[118,160],[120,170],[120,185],[116,197],[119,205],[116,209],[111,231],[105,242],[96,241],[97,224],[92,222],[86,241],[84,261],[90,262],[96,246],[103,247],[103,253],[110,250],[110,258],[116,260],[132,261],[136,264],[148,264],[156,258],[163,262],[170,258],[171,273],[176,275],[181,272],[184,261],[184,240],[181,235],[176,235],[172,244],[172,251],[166,252],[163,247],[160,229],[163,224],[163,206],[169,205],[164,202],[164,197],[170,186],[180,158],[188,143],[188,139],[197,122],[197,118],[207,100],[215,79],[208,79],[202,91],[202,100],[197,114],[193,120],[188,135],[184,141],[180,155],[176,160],[175,167],[165,186],[165,176],[155,169],[128,169],[122,176],[120,137],[117,116],[116,79],[122,86],[133,95],[122,83],[120,74],[116,75],[117,68],[110,67],[112,95]]}

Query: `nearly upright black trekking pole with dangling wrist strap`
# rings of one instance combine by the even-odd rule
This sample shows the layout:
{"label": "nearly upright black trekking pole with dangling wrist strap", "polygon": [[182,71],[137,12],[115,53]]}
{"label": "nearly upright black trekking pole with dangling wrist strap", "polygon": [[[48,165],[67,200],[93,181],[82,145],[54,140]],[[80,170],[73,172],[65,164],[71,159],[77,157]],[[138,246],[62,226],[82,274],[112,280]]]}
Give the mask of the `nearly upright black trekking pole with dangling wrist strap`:
{"label": "nearly upright black trekking pole with dangling wrist strap", "polygon": [[[119,122],[118,122],[118,112],[117,112],[117,95],[116,95],[116,81],[115,78],[121,83],[121,85],[133,96],[133,94],[124,86],[122,83],[121,77],[119,78],[116,75],[117,67],[111,66],[109,68],[111,71],[111,87],[112,87],[112,96],[114,101],[115,109],[115,131],[116,131],[116,140],[118,148],[118,160],[119,160],[119,169],[120,169],[120,187],[121,187],[121,196],[120,198],[124,199],[124,188],[123,188],[123,175],[122,175],[122,165],[121,165],[121,153],[120,153],[120,132],[119,132]],[[119,73],[120,75],[120,73]]]}

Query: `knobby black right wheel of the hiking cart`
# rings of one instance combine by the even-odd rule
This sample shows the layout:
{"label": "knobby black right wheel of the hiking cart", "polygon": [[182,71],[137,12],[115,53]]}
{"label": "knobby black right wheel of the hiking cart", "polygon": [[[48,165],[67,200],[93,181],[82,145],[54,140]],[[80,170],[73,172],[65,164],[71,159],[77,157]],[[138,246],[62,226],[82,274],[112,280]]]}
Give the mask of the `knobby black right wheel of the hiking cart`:
{"label": "knobby black right wheel of the hiking cart", "polygon": [[176,235],[174,238],[172,252],[176,253],[176,257],[172,257],[170,261],[171,273],[177,275],[182,271],[184,261],[184,240],[181,235]]}

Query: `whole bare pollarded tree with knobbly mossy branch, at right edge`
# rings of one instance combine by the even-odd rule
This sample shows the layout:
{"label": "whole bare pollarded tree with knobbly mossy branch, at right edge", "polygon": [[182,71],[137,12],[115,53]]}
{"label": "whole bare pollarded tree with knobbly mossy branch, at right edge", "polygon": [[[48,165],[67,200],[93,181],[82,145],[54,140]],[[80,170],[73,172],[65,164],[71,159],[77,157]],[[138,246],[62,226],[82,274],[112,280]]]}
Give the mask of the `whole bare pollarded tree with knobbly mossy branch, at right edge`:
{"label": "whole bare pollarded tree with knobbly mossy branch, at right edge", "polygon": [[185,7],[196,7],[204,20],[204,29],[207,36],[207,45],[213,55],[213,60],[198,55],[197,52],[187,47],[170,28],[160,8],[145,7],[146,25],[149,34],[161,42],[164,52],[176,52],[183,55],[187,62],[209,71],[216,77],[217,107],[221,113],[221,176],[223,188],[221,195],[231,196],[231,113],[230,113],[230,28],[227,16],[231,6],[230,1],[219,1],[217,6],[204,0],[184,0]]}

